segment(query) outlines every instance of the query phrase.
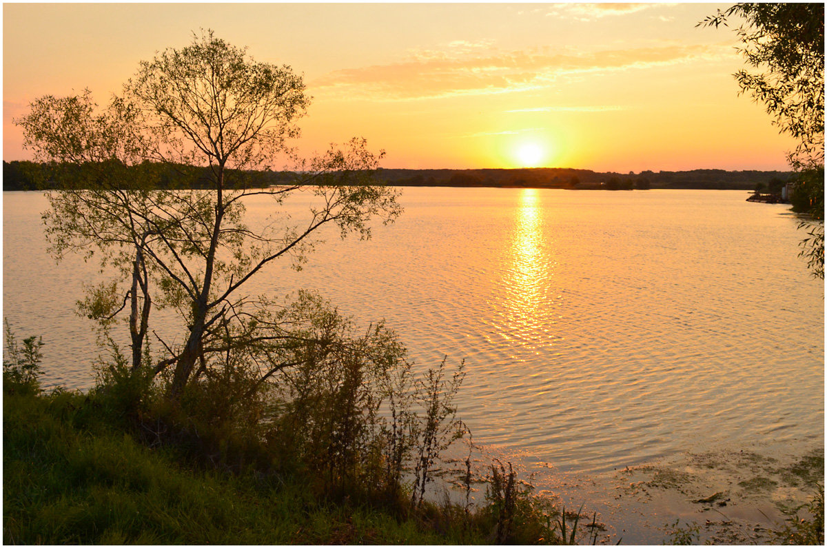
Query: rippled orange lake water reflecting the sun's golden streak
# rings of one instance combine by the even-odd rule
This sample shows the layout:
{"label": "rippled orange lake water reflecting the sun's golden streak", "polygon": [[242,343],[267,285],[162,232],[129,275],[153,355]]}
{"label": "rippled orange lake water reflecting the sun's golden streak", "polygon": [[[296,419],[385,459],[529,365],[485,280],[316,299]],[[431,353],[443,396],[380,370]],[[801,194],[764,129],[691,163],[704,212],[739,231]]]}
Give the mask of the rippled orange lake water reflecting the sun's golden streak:
{"label": "rippled orange lake water reflecting the sun's golden streak", "polygon": [[[824,285],[786,206],[745,198],[407,189],[369,242],[327,233],[302,272],[276,265],[254,289],[315,289],[360,324],[385,319],[420,367],[464,358],[475,441],[563,472],[823,444]],[[94,334],[73,309],[99,275],[45,253],[46,206],[3,193],[3,315],[43,335],[47,384],[87,388]]]}

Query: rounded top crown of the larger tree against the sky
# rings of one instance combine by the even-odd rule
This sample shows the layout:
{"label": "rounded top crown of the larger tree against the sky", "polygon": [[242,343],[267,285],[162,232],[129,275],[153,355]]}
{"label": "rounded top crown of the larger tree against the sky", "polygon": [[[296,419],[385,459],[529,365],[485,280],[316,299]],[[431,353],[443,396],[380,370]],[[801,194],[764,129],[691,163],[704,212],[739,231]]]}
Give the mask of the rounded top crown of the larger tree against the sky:
{"label": "rounded top crown of the larger tree against the sky", "polygon": [[141,126],[151,147],[187,165],[251,169],[275,161],[309,99],[289,66],[253,60],[214,36],[194,35],[142,61],[125,86],[130,104],[147,107]]}

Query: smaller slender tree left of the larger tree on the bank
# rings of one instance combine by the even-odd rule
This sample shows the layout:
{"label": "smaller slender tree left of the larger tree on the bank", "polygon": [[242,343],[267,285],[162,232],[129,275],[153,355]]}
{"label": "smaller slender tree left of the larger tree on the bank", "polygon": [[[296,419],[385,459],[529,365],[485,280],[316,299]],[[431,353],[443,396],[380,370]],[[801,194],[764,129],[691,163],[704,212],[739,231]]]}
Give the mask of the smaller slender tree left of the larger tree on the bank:
{"label": "smaller slender tree left of the larger tree on the bank", "polygon": [[[51,208],[43,214],[50,252],[60,260],[66,252],[98,252],[102,270],[113,264],[130,289],[120,302],[117,281],[89,289],[80,308],[104,326],[129,305],[132,367],[144,356],[151,312],[146,245],[153,228],[146,223],[151,203],[146,170],[131,170],[143,158],[141,136],[134,131],[136,110],[113,99],[100,112],[86,90],[74,97],[45,96],[31,103],[22,126],[24,145],[36,160],[50,162],[39,175],[60,180],[60,192],[49,192]],[[127,172],[128,171],[128,172]]]}

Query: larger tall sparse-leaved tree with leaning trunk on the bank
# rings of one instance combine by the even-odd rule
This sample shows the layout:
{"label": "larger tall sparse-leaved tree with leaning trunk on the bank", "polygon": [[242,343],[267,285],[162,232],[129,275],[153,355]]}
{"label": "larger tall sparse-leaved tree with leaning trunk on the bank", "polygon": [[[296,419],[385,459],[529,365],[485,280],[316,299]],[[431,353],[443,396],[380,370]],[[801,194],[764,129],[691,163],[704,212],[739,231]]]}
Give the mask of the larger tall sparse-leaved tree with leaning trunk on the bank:
{"label": "larger tall sparse-leaved tree with leaning trunk on the bank", "polygon": [[[82,112],[69,108],[78,103],[84,104]],[[141,280],[156,288],[152,304],[173,307],[187,325],[180,346],[161,341],[166,354],[154,364],[156,373],[174,368],[171,397],[213,361],[229,367],[240,353],[269,360],[262,376],[283,367],[281,350],[291,336],[281,316],[270,300],[246,296],[241,288],[280,257],[304,260],[324,225],[336,224],[342,237],[368,238],[370,219],[387,223],[400,212],[394,190],[370,184],[382,153],[368,151],[361,139],[300,162],[289,185],[254,184],[254,171],[292,157],[287,142],[299,135],[295,121],[308,103],[301,77],[288,66],[257,62],[206,31],[183,49],[142,62],[122,98],[103,114],[93,115],[88,99],[52,98],[33,103],[31,114],[19,122],[27,145],[41,155],[73,169],[93,165],[107,174],[107,185],[86,175],[84,185],[91,189],[56,193],[52,213],[45,216],[47,231],[63,248],[120,249],[128,235],[134,256],[140,256]],[[60,125],[46,123],[53,118]],[[112,135],[112,147],[129,147],[128,158],[135,160],[123,175],[149,175],[131,182],[112,176],[108,166],[120,156],[86,137],[98,119],[108,121],[103,127],[122,128]],[[88,149],[88,157],[68,154],[65,142]],[[151,190],[155,166],[198,166],[208,190]],[[246,224],[250,197],[270,197],[278,209],[299,191],[315,197],[305,224]],[[118,219],[134,219],[135,226],[124,227]],[[107,222],[117,227],[101,230]],[[116,259],[125,261],[120,255]],[[112,300],[110,291],[106,299],[92,302],[107,302],[109,310]],[[147,292],[143,304],[150,303]]]}

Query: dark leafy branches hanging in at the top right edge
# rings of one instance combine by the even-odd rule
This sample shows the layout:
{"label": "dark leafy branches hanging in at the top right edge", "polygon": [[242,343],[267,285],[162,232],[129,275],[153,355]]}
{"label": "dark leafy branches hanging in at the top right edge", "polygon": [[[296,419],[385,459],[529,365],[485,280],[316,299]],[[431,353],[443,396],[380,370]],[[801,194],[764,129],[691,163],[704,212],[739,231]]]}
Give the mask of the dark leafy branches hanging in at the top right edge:
{"label": "dark leafy branches hanging in at the top right edge", "polygon": [[787,156],[796,171],[793,209],[807,214],[809,238],[801,256],[824,278],[825,6],[823,3],[738,3],[698,26],[728,26],[738,19],[739,53],[755,72],[739,70],[741,93],[763,103],[782,133],[796,139]]}

